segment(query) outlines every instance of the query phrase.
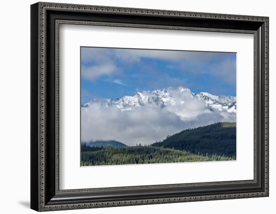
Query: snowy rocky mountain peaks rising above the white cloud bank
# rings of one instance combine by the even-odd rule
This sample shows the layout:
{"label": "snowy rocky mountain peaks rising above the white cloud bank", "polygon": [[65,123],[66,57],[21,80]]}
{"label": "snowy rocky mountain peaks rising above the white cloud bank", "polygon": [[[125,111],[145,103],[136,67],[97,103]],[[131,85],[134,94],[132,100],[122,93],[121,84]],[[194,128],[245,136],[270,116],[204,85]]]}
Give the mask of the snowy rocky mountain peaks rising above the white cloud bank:
{"label": "snowy rocky mountain peaks rising above the white cloud bank", "polygon": [[191,99],[204,101],[206,110],[209,111],[226,111],[228,113],[236,113],[236,97],[213,95],[207,92],[193,93],[189,88],[182,86],[178,88],[167,88],[163,90],[137,92],[132,96],[122,96],[116,99],[95,98],[83,105],[84,108],[94,103],[104,106],[116,106],[121,111],[130,111],[142,106],[157,105],[160,108],[171,108],[174,105],[183,105],[187,111]]}

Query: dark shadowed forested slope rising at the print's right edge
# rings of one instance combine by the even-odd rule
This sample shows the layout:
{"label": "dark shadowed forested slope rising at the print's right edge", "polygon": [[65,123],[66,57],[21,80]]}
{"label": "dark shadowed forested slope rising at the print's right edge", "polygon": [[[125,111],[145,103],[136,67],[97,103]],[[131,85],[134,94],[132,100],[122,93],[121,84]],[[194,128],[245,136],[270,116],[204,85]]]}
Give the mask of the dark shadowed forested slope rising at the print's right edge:
{"label": "dark shadowed forested slope rising at the print's right edge", "polygon": [[188,129],[152,146],[186,150],[194,154],[236,156],[236,123],[216,123]]}

